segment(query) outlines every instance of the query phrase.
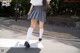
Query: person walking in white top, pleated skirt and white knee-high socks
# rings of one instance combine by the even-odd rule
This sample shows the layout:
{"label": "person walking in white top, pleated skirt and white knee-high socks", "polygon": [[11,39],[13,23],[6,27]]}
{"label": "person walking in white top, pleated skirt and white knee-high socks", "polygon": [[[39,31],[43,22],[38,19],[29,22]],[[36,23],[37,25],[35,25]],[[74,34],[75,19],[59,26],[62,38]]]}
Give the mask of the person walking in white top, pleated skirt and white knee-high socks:
{"label": "person walking in white top, pleated skirt and white knee-high socks", "polygon": [[[47,0],[48,4],[50,0]],[[44,31],[44,22],[46,21],[46,11],[43,10],[43,0],[31,0],[31,7],[28,12],[28,19],[31,19],[31,25],[27,31],[27,38],[25,42],[26,47],[30,47],[29,40],[32,32],[36,27],[37,21],[39,21],[39,41],[42,41],[42,35]]]}

